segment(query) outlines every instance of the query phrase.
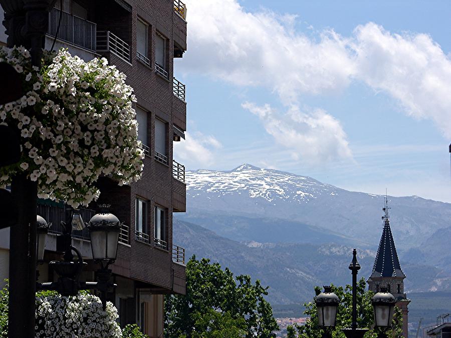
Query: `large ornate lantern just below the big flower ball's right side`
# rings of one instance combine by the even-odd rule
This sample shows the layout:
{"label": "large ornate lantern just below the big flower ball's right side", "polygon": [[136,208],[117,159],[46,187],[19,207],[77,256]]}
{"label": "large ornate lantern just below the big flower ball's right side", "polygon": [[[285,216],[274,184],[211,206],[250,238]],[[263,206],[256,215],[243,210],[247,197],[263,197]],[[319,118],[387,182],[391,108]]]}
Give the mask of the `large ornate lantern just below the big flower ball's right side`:
{"label": "large ornate lantern just below the big flower ball's right side", "polygon": [[116,260],[121,222],[108,211],[109,205],[100,205],[100,212],[88,223],[92,258],[105,268]]}

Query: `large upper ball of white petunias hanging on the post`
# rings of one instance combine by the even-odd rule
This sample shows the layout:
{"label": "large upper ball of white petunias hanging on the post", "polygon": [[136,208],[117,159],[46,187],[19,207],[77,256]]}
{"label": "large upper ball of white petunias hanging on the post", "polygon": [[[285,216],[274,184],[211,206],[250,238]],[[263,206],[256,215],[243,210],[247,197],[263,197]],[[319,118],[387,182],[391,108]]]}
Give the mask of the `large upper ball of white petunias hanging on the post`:
{"label": "large upper ball of white petunias hanging on the post", "polygon": [[100,175],[119,185],[140,178],[136,99],[123,73],[106,59],[85,62],[64,49],[45,54],[41,70],[23,47],[3,47],[0,62],[16,68],[25,93],[0,105],[0,123],[17,126],[22,141],[22,159],[0,169],[0,186],[25,171],[38,182],[39,197],[77,207],[97,199]]}

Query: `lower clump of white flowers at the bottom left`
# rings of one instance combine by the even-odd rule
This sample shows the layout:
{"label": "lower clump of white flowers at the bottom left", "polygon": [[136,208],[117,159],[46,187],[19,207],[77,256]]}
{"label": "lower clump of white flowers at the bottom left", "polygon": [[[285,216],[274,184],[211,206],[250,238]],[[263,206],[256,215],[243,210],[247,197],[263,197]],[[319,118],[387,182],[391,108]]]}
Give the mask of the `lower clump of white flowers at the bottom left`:
{"label": "lower clump of white flowers at the bottom left", "polygon": [[36,298],[36,338],[120,338],[117,309],[89,293],[65,297],[59,294]]}

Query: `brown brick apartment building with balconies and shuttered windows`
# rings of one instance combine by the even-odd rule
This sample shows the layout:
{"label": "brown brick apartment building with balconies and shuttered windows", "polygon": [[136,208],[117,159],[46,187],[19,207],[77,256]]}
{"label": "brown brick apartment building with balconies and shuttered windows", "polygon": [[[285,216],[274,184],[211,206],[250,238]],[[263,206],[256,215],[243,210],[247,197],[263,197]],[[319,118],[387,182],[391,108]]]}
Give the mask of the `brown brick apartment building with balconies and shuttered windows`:
{"label": "brown brick apartment building with balconies and shuttered windows", "polygon": [[[3,11],[2,15],[3,15]],[[111,204],[124,227],[116,262],[111,266],[118,285],[109,298],[121,326],[138,323],[151,337],[163,334],[163,296],[185,292],[184,249],[172,242],[172,214],[184,212],[184,166],[175,162],[173,142],[186,130],[185,86],[174,76],[173,59],[186,50],[186,9],[179,0],[57,0],[50,12],[46,49],[68,48],[84,60],[105,57],[127,75],[137,97],[138,137],[145,151],[142,178],[118,186],[98,182],[97,203],[81,209],[85,222],[100,203]],[[58,23],[61,25],[57,34]],[[4,30],[0,40],[5,45]],[[40,281],[56,280],[47,262],[59,260],[55,234],[62,231],[64,204],[40,200],[38,214],[52,222]],[[87,229],[74,232],[73,245],[92,259]],[[0,286],[8,277],[9,229],[0,230]],[[92,261],[83,278],[94,280]]]}

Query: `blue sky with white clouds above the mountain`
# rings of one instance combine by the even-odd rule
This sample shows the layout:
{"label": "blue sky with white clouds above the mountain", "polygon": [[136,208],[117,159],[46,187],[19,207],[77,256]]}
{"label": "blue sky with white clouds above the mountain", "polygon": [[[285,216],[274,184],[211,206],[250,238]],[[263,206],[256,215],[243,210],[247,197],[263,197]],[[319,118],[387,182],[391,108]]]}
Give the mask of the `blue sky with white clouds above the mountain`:
{"label": "blue sky with white clouds above the mountain", "polygon": [[451,3],[186,3],[187,169],[451,202]]}

